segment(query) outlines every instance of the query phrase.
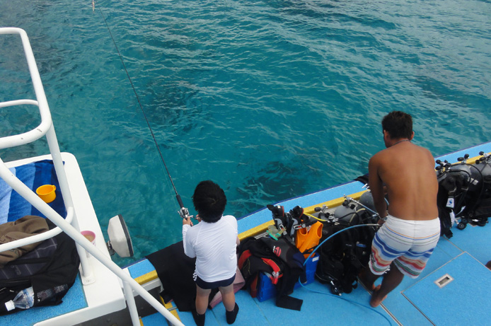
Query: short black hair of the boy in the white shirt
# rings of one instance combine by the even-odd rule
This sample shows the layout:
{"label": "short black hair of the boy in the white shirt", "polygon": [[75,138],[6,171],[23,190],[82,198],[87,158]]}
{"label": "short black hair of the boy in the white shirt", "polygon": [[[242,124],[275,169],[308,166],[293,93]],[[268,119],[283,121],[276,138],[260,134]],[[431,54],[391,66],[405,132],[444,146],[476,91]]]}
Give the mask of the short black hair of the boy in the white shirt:
{"label": "short black hair of the boy in the white shirt", "polygon": [[203,221],[207,223],[219,221],[226,206],[224,190],[213,181],[202,181],[198,183],[192,195],[192,204],[195,205]]}

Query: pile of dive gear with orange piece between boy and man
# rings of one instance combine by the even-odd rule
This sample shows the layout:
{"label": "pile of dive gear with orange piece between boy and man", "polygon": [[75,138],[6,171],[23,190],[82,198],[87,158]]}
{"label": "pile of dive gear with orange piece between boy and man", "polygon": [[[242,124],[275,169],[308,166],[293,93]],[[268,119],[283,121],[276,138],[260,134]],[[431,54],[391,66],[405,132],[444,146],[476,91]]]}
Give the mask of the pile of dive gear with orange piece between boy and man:
{"label": "pile of dive gear with orange piece between boy and man", "polygon": [[[275,226],[271,226],[267,231],[270,237],[245,239],[240,248],[239,268],[246,279],[251,295],[257,294],[259,272],[269,275],[272,284],[281,284],[285,265],[292,262],[291,257],[277,260],[281,257],[279,252],[282,252],[282,247],[289,247],[289,250],[294,248],[301,254],[295,257],[304,260],[322,240],[350,226],[367,224],[364,228],[343,231],[316,249],[319,255],[316,279],[328,284],[335,294],[350,293],[357,287],[359,271],[368,264],[371,241],[376,231],[373,223],[376,222],[377,215],[374,207],[370,208],[370,205],[373,206],[370,192],[366,192],[360,202],[346,197],[345,202],[333,213],[330,213],[325,206],[318,207],[316,208],[318,216],[305,214],[301,206],[285,212],[283,206],[267,205],[275,221]],[[280,243],[282,245],[279,245]],[[275,254],[278,257],[275,257]],[[267,259],[277,262],[280,271],[278,277],[275,277],[276,269],[268,264]],[[299,275],[296,276],[295,281],[298,281]],[[291,291],[293,286],[294,284],[289,284]]]}

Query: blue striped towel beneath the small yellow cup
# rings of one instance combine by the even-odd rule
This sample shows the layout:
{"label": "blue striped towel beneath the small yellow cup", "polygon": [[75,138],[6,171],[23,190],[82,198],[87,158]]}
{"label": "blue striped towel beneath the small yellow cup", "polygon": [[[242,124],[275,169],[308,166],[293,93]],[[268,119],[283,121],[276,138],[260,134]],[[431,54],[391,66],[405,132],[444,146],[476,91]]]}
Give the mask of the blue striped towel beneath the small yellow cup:
{"label": "blue striped towel beneath the small yellow cup", "polygon": [[[44,160],[28,163],[10,169],[13,175],[30,187],[34,192],[42,185],[54,185],[57,187],[56,199],[48,205],[63,217],[67,217],[67,209],[63,202],[62,192],[59,190],[59,182],[54,172],[53,161]],[[37,215],[46,218],[20,194],[14,191],[4,180],[0,179],[0,224],[16,221],[25,215]]]}

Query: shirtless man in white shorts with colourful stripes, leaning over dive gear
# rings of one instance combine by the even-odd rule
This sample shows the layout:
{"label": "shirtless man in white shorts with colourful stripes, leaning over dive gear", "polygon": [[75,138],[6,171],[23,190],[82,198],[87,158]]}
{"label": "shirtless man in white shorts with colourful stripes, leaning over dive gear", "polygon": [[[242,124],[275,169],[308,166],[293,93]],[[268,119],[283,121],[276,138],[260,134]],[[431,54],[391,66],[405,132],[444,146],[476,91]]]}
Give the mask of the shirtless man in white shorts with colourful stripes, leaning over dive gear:
{"label": "shirtless man in white shorts with colourful stripes, leaning over dive gear", "polygon": [[[383,226],[374,237],[369,268],[360,275],[373,290],[372,307],[380,305],[405,275],[413,279],[420,275],[440,237],[432,154],[411,143],[414,132],[407,113],[389,113],[383,117],[382,129],[386,149],[369,161],[369,186]],[[374,281],[389,266],[381,285],[375,287]]]}

